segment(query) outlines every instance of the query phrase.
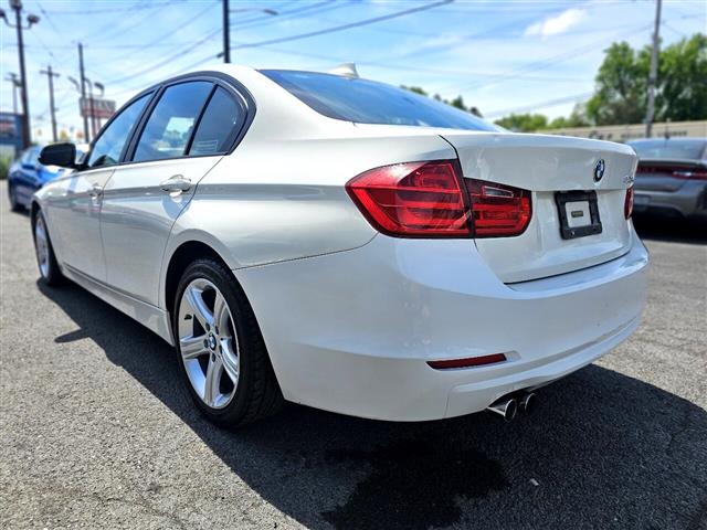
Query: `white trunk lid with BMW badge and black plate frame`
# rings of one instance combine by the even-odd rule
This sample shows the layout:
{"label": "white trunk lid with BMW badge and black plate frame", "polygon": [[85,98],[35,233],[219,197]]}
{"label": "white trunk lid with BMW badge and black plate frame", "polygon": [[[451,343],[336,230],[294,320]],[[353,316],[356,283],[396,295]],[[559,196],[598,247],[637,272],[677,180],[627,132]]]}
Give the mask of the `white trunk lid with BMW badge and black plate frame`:
{"label": "white trunk lid with BMW badge and black plate frame", "polygon": [[[636,167],[630,147],[545,135],[444,131],[442,137],[456,149],[465,178],[531,192],[532,216],[523,234],[475,240],[478,252],[504,283],[578,271],[629,251],[631,230],[624,201]],[[601,160],[603,174],[595,180]],[[587,232],[581,229],[595,220],[592,209],[601,232],[572,236],[572,232]]]}

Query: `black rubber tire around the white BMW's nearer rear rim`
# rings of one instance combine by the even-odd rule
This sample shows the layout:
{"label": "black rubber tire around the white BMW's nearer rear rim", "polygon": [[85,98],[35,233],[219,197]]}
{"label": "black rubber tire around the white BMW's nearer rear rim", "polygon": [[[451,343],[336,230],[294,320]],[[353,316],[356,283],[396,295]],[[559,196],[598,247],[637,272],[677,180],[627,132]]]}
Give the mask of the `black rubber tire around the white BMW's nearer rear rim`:
{"label": "black rubber tire around the white BMW's nearer rear rim", "polygon": [[[187,373],[180,349],[179,315],[182,296],[187,287],[200,278],[213,284],[225,299],[238,339],[240,362],[238,385],[231,401],[221,409],[209,406],[197,393]],[[283,395],[255,315],[231,272],[220,262],[200,258],[187,267],[175,297],[172,330],[182,381],[194,404],[209,421],[224,428],[235,428],[279,411],[284,403]]]}

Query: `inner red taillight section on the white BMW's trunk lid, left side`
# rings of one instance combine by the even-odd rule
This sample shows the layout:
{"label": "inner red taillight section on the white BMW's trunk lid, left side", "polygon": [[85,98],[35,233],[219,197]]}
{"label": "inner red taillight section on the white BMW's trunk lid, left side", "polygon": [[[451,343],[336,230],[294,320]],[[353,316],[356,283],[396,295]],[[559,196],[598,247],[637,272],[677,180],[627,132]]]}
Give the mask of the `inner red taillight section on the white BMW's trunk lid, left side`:
{"label": "inner red taillight section on the white BMW's trunk lid, left side", "polygon": [[528,227],[530,192],[510,186],[464,179],[472,202],[475,237],[519,235]]}

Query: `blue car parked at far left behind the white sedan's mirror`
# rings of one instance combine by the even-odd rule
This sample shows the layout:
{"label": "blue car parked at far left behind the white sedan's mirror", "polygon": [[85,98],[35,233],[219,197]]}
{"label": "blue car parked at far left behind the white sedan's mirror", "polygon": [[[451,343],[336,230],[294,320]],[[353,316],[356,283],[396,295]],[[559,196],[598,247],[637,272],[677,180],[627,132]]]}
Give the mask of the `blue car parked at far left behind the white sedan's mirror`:
{"label": "blue car parked at far left behind the white sedan's mirror", "polygon": [[41,146],[33,146],[20,153],[8,171],[8,193],[13,212],[28,208],[32,194],[66,169],[42,166],[39,162]]}

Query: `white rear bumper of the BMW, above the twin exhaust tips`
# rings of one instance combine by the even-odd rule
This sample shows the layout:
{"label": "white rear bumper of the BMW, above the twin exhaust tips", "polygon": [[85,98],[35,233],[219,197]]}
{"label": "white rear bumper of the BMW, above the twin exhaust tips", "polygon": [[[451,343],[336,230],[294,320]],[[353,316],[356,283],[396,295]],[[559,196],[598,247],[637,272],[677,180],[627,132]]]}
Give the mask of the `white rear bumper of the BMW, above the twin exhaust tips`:
{"label": "white rear bumper of the BMW, above the twin exhaust tips", "polygon": [[[626,339],[645,304],[635,233],[616,259],[503,284],[468,240],[395,240],[236,269],[289,401],[392,421],[484,410],[559,379]],[[494,365],[429,360],[503,352]]]}

